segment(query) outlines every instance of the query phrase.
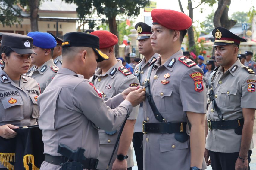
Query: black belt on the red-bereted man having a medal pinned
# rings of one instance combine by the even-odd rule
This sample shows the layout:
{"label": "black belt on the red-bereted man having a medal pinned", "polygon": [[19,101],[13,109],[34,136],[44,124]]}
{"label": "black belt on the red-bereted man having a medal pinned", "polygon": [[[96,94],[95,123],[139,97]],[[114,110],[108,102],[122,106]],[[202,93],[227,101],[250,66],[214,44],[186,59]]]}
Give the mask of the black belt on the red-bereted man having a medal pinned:
{"label": "black belt on the red-bereted man having a medal pinned", "polygon": [[186,122],[179,123],[147,123],[143,121],[143,133],[180,133],[186,129]]}

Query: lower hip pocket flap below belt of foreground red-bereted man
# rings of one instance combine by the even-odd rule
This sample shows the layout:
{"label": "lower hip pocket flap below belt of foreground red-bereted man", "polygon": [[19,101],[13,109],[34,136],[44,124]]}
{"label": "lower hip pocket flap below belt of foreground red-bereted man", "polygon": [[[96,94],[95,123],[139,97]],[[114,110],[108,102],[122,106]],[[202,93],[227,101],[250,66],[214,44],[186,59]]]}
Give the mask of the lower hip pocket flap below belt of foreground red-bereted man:
{"label": "lower hip pocket flap below belt of foreground red-bereted man", "polygon": [[160,152],[168,152],[188,148],[187,142],[181,143],[173,138],[159,140]]}

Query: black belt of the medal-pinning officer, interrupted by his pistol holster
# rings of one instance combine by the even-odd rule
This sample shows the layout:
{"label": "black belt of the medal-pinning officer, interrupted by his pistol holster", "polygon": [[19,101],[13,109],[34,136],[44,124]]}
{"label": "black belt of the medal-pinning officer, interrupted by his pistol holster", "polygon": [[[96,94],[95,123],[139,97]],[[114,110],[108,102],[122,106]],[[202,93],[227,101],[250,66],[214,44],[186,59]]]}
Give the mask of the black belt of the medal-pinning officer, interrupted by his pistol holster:
{"label": "black belt of the medal-pinning officer, interrupted by his pistol holster", "polygon": [[[67,162],[67,158],[65,156],[52,156],[45,154],[45,162],[61,166],[62,163]],[[98,159],[86,158],[86,160],[83,160],[80,163],[83,164],[83,169],[96,169]]]}

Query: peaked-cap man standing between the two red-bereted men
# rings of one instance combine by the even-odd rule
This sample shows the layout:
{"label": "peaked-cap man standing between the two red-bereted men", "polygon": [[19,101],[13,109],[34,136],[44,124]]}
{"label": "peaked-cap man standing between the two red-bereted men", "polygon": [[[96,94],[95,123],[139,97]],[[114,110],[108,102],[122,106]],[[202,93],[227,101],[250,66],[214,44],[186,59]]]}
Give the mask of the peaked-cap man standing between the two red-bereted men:
{"label": "peaked-cap man standing between the two red-bereted men", "polygon": [[[142,54],[144,57],[143,59],[136,65],[134,68],[134,76],[136,76],[139,80],[141,86],[144,86],[144,79],[146,78],[146,73],[149,68],[149,64],[154,61],[156,58],[159,57],[159,54],[155,53],[151,47],[151,26],[139,22],[135,25],[135,29],[138,32],[138,49],[139,53]],[[139,107],[139,114],[138,118],[135,123],[134,127],[134,134],[133,134],[133,147],[135,151],[136,161],[138,165],[138,170],[143,169],[143,150],[142,150],[142,140],[143,140],[143,133],[141,128],[141,122],[143,119],[143,102],[140,104]]]}

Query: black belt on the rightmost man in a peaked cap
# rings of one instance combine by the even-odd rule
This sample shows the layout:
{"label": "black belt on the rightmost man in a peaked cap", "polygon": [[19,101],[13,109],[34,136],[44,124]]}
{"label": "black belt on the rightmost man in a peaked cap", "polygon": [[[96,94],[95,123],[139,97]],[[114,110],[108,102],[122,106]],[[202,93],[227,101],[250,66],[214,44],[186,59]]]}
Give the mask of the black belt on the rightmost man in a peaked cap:
{"label": "black belt on the rightmost man in a peaked cap", "polygon": [[216,121],[207,120],[208,128],[211,129],[236,129],[244,125],[244,119],[235,119],[235,120],[225,120],[225,121]]}

